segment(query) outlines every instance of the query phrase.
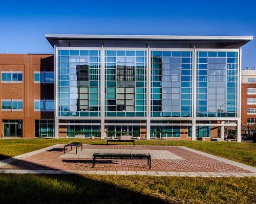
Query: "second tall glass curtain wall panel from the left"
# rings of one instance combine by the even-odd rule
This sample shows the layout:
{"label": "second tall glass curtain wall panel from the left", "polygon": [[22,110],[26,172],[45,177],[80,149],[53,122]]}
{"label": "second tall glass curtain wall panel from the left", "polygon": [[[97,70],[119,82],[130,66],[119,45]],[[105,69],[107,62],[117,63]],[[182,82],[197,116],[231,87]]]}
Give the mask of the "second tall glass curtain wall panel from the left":
{"label": "second tall glass curtain wall panel from the left", "polygon": [[105,50],[105,116],[146,116],[146,51]]}

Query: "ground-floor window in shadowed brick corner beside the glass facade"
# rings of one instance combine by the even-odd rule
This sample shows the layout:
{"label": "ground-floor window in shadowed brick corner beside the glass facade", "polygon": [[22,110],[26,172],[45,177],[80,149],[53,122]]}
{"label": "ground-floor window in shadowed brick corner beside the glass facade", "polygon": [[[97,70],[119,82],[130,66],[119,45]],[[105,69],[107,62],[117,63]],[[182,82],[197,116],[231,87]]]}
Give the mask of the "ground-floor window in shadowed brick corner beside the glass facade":
{"label": "ground-floor window in shadowed brick corner beside the glass facade", "polygon": [[54,137],[54,120],[35,120],[35,137]]}

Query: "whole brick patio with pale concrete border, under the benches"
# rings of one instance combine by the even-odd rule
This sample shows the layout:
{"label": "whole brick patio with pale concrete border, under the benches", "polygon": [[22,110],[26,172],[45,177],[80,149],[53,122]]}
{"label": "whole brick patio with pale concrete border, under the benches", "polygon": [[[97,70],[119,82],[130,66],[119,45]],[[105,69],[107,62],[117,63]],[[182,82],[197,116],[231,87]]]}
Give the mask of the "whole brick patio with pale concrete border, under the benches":
{"label": "whole brick patio with pale concrete border, under the benches", "polygon": [[[132,145],[83,145],[83,150],[66,150],[64,145],[54,145],[42,150],[37,150],[12,160],[1,161],[2,172],[26,172],[24,170],[40,170],[39,172],[56,171],[98,173],[98,174],[147,174],[147,175],[204,175],[225,176],[240,175],[253,176],[256,168],[247,165],[232,165],[232,161],[212,156],[207,156],[200,151],[178,146],[132,146]],[[146,160],[97,160],[92,168],[93,152],[113,153],[145,153],[152,156],[152,167],[148,168]],[[223,161],[221,161],[223,160]],[[227,162],[226,162],[227,161]],[[230,162],[228,162],[230,161]],[[241,166],[241,167],[240,167]],[[18,170],[18,171],[13,171]],[[122,173],[123,172],[123,173]],[[124,173],[125,172],[125,173]],[[146,172],[146,173],[145,173]],[[48,172],[49,173],[49,172]]]}

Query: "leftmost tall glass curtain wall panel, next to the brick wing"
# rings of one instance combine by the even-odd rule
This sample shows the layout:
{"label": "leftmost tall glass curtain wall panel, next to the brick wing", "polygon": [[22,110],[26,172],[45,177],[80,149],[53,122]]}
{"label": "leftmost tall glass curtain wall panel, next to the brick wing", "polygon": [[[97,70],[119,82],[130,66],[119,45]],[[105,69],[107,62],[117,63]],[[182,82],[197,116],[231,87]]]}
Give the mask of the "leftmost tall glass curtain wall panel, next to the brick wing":
{"label": "leftmost tall glass curtain wall panel, next to the brick wing", "polygon": [[100,116],[100,50],[58,50],[59,116]]}

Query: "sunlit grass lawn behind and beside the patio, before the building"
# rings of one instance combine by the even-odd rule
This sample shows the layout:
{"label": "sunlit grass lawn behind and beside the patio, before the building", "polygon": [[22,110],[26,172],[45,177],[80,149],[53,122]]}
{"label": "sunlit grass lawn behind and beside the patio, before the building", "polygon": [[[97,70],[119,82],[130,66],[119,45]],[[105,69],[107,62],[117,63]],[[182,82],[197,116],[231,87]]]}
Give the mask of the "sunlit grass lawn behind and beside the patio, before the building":
{"label": "sunlit grass lawn behind and beside the patio, before the building", "polygon": [[[3,139],[0,140],[0,160],[24,154],[58,143],[74,141],[83,144],[105,144],[100,139]],[[120,143],[121,144],[121,143]],[[130,144],[130,143],[122,143]],[[186,146],[256,167],[256,144],[251,142],[206,142],[181,140],[136,140],[136,145]]]}

